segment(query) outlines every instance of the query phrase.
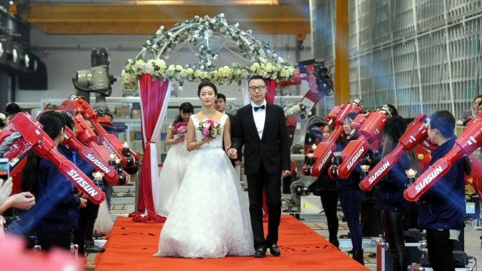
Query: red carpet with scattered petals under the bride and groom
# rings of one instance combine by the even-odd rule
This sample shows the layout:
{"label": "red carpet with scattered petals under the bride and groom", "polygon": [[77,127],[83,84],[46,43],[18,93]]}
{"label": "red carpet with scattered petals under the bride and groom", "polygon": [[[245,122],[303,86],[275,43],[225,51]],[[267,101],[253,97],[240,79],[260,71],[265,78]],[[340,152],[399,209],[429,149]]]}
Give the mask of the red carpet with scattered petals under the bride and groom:
{"label": "red carpet with scattered petals under the bride and groom", "polygon": [[[157,252],[163,224],[134,223],[132,218],[119,217],[104,246],[105,253],[99,253],[95,258],[95,270],[368,270],[300,221],[291,216],[283,218],[287,222],[282,222],[279,227],[280,257],[183,259],[152,256]],[[267,223],[264,226],[266,231]]]}

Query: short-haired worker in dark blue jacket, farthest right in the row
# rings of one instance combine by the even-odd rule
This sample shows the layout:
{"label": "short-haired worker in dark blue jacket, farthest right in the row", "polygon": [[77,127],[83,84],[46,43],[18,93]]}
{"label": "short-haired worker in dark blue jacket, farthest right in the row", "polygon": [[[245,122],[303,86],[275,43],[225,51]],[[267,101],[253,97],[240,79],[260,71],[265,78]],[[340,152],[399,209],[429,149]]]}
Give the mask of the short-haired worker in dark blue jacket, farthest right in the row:
{"label": "short-haired worker in dark blue jacket, farthest right in the row", "polygon": [[[454,146],[455,118],[448,111],[430,116],[428,135],[438,145],[430,153],[429,166],[444,157]],[[427,250],[434,271],[454,270],[453,248],[463,230],[465,178],[470,174],[467,157],[459,159],[420,197],[418,224],[427,231]]]}

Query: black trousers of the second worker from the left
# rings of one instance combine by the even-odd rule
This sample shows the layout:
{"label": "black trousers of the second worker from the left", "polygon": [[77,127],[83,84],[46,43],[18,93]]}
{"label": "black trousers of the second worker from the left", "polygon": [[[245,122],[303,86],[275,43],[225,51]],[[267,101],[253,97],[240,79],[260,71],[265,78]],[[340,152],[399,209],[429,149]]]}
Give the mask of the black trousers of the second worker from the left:
{"label": "black trousers of the second worker from the left", "polygon": [[80,208],[78,228],[74,230],[75,243],[79,245],[79,254],[85,254],[85,242],[92,239],[95,220],[99,212],[99,204],[87,199],[87,206]]}

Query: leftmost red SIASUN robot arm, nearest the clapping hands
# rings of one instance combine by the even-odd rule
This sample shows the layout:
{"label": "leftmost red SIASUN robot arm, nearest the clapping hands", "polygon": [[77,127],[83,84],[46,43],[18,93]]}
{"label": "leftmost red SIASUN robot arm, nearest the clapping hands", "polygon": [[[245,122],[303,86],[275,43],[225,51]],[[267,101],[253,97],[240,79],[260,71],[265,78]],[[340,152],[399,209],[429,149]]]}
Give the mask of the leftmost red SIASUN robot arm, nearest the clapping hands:
{"label": "leftmost red SIASUN robot arm, nearest the clapping hands", "polygon": [[[42,129],[42,125],[34,122],[28,113],[19,113],[10,124],[0,133],[0,143],[14,132],[19,132],[18,137],[11,144],[2,157],[8,158],[11,162],[22,156],[26,151],[32,149],[40,157],[44,157],[59,168],[59,171],[66,176],[75,187],[93,202],[102,203],[105,195],[94,183],[72,162],[66,159],[55,147],[53,140]],[[2,144],[0,144],[2,145]]]}

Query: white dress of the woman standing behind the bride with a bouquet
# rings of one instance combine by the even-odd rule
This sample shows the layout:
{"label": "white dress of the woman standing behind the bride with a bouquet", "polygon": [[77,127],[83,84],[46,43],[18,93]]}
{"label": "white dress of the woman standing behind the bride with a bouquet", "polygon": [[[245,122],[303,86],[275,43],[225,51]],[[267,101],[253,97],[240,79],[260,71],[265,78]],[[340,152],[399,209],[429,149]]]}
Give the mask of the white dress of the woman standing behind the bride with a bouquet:
{"label": "white dress of the woman standing behind the bride with a bouquet", "polygon": [[[172,124],[169,128],[172,129]],[[174,139],[177,138],[179,135],[174,135]],[[156,209],[158,215],[163,217],[169,215],[190,160],[191,153],[186,149],[186,140],[173,144],[167,152],[166,160],[159,173],[159,198]]]}

